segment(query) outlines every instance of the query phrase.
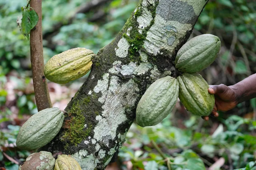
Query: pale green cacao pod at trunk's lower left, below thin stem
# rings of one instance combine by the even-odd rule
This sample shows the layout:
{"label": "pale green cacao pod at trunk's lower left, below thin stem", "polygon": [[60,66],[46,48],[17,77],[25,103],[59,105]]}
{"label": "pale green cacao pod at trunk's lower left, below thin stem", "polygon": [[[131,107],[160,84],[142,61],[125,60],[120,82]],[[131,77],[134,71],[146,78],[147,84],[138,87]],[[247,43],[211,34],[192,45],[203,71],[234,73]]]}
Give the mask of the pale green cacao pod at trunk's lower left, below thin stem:
{"label": "pale green cacao pod at trunk's lower left, below thin stem", "polygon": [[31,116],[20,128],[16,145],[34,150],[49,143],[60,131],[64,114],[58,108],[41,110]]}

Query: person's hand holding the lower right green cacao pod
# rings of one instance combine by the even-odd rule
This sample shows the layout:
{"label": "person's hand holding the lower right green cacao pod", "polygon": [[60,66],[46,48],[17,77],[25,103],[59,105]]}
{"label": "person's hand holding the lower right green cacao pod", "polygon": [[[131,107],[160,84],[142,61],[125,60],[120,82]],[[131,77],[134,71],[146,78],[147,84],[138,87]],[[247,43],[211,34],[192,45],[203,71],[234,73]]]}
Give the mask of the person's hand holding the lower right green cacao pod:
{"label": "person's hand holding the lower right green cacao pod", "polygon": [[[214,94],[215,104],[211,116],[218,117],[217,111],[228,111],[238,104],[237,88],[233,86],[210,85],[208,92]],[[202,116],[205,121],[209,120],[209,116]]]}

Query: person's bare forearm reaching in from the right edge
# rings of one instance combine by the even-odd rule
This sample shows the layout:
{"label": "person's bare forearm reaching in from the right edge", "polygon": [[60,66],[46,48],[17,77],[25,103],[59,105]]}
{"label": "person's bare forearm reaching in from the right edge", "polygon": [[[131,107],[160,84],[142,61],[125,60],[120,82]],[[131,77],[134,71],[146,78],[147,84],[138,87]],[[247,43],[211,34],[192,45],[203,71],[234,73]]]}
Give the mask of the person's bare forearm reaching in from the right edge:
{"label": "person's bare forearm reaching in from the right edge", "polygon": [[250,100],[256,97],[256,74],[229,87],[236,91],[238,103]]}

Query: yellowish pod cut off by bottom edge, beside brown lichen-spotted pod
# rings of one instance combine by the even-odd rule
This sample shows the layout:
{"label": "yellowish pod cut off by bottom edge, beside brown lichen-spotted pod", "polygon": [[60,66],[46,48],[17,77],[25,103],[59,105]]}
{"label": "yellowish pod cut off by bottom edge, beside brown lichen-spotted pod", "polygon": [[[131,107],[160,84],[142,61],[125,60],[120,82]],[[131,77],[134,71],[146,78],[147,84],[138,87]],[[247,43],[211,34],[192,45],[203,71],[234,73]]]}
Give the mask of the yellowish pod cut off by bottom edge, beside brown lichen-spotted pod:
{"label": "yellowish pod cut off by bottom edge, beside brown lichen-spotted pod", "polygon": [[79,163],[68,155],[58,155],[54,170],[82,170]]}

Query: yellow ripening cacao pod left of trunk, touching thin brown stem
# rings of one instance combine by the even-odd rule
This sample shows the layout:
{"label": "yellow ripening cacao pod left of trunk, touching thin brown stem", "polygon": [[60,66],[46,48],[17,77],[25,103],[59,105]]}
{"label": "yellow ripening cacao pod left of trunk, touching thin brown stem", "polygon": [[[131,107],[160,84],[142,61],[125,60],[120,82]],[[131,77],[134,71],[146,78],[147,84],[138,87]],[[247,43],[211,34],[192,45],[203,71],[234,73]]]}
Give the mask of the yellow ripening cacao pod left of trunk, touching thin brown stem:
{"label": "yellow ripening cacao pod left of trunk, touching thin brown stem", "polygon": [[45,77],[52,82],[64,84],[78,79],[92,68],[92,50],[74,48],[53,56],[45,64]]}

